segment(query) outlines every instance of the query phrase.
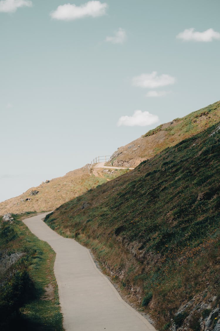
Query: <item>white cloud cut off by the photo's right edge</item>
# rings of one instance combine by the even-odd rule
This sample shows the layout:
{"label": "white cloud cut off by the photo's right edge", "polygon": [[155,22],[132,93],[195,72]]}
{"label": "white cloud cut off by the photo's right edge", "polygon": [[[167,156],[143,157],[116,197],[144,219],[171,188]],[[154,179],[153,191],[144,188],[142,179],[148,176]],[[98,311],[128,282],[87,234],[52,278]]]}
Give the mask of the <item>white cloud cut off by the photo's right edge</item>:
{"label": "white cloud cut off by the photo's right edge", "polygon": [[176,38],[182,39],[185,41],[212,41],[213,39],[220,39],[220,33],[214,31],[213,29],[207,29],[203,32],[195,31],[192,27],[190,29],[185,29],[183,32],[177,34]]}

